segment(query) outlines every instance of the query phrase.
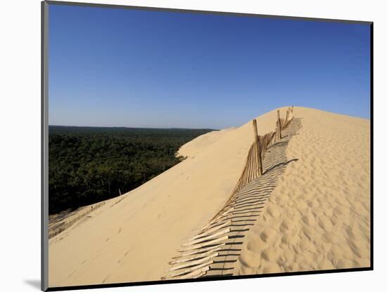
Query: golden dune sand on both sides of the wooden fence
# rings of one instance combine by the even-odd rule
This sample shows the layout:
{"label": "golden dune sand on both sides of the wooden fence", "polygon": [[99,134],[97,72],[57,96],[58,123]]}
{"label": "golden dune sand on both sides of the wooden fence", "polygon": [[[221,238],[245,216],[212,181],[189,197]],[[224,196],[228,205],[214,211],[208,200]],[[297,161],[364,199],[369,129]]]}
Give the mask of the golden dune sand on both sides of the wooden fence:
{"label": "golden dune sand on both sides of the wooden fence", "polygon": [[[281,117],[286,108],[281,108]],[[294,108],[284,173],[250,226],[233,274],[369,266],[369,120]],[[277,111],[258,117],[274,131]],[[154,281],[224,206],[253,142],[250,121],[184,145],[186,160],[49,241],[49,286]],[[262,178],[265,175],[262,176]]]}

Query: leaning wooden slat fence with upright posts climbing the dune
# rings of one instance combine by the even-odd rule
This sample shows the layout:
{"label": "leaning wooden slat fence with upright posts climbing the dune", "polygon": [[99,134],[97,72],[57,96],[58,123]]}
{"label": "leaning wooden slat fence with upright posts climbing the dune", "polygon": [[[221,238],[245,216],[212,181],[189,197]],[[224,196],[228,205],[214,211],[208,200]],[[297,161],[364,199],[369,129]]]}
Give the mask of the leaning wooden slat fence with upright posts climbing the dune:
{"label": "leaning wooden slat fence with upright posts climbing the dune", "polygon": [[[253,120],[254,142],[250,146],[246,164],[229,199],[207,225],[182,244],[182,248],[178,251],[179,255],[170,261],[171,267],[165,271],[167,276],[162,279],[210,277],[219,274],[220,271],[224,275],[224,263],[227,262],[225,258],[232,252],[228,247],[241,244],[238,239],[243,237],[241,232],[246,231],[246,223],[255,222],[255,219],[246,217],[254,218],[270,194],[267,185],[262,187],[257,180],[264,175],[262,161],[265,153],[270,146],[282,139],[281,131],[284,131],[292,120],[293,106],[288,107],[285,119],[281,119],[278,110],[276,131],[265,135],[258,135],[258,124],[255,119]],[[268,180],[274,181],[272,178]],[[274,184],[268,185],[275,187]],[[245,213],[249,215],[243,215]],[[224,260],[217,260],[222,258]]]}

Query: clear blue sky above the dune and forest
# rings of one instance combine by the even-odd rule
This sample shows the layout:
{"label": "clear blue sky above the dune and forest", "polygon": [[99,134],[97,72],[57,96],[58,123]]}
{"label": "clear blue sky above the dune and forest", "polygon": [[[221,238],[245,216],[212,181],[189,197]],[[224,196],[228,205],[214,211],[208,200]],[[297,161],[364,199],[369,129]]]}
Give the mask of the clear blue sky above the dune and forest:
{"label": "clear blue sky above the dune and forest", "polygon": [[369,119],[369,25],[49,6],[49,124],[239,126],[295,105]]}

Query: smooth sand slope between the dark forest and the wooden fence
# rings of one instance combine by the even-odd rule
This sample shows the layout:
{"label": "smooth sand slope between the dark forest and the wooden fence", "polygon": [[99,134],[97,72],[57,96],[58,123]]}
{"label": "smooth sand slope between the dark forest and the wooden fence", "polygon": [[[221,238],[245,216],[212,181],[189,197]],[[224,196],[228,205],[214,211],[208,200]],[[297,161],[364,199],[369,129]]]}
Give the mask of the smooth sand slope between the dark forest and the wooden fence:
{"label": "smooth sand slope between the dark forest and the wooden fence", "polygon": [[[276,117],[262,115],[258,132],[273,131]],[[200,152],[183,147],[182,163],[51,238],[49,286],[160,280],[182,241],[227,201],[253,142],[250,123],[211,134],[190,142]]]}

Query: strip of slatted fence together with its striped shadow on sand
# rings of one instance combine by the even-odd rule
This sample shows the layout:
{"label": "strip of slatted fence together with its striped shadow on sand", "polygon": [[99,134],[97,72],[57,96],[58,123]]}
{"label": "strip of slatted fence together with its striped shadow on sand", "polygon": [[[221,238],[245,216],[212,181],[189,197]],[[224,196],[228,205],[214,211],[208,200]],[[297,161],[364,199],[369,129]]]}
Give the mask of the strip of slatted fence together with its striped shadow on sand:
{"label": "strip of slatted fence together with its striped shadow on sand", "polygon": [[[276,131],[257,137],[226,204],[198,234],[182,244],[179,255],[170,261],[167,277],[162,279],[233,275],[234,263],[241,255],[243,238],[249,226],[254,225],[279,176],[292,162],[286,161],[285,148],[300,127],[300,121],[293,121],[289,113],[293,115],[293,111],[288,110],[286,119],[278,120],[280,124],[277,124]],[[265,158],[262,175],[258,169],[258,153]]]}

